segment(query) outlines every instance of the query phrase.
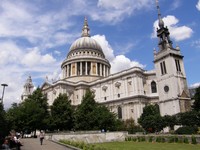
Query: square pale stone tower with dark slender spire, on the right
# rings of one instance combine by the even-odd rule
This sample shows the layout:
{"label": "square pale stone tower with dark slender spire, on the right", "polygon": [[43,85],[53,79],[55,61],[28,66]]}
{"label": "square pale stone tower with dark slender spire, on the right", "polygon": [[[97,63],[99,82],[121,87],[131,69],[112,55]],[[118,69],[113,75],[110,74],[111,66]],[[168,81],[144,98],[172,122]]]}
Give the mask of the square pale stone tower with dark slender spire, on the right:
{"label": "square pale stone tower with dark slender spire, on the right", "polygon": [[187,87],[183,55],[179,46],[173,47],[170,32],[161,18],[158,0],[158,48],[154,50],[154,65],[156,70],[160,113],[174,115],[190,109],[190,97]]}

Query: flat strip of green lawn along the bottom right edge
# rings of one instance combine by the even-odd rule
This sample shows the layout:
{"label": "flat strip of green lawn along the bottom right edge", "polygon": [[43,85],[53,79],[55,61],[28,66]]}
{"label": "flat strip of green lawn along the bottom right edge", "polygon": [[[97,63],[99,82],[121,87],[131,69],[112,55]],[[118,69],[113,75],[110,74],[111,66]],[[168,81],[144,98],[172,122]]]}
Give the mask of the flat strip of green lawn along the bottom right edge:
{"label": "flat strip of green lawn along the bottom right edge", "polygon": [[200,144],[183,143],[111,142],[95,145],[108,150],[200,150]]}

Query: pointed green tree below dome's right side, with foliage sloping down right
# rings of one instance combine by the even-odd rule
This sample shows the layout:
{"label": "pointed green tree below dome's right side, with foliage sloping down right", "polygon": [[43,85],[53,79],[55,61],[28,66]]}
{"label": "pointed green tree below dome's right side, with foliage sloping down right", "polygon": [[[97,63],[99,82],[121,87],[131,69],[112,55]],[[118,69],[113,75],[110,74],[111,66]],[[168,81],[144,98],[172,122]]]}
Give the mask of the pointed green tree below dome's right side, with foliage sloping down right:
{"label": "pointed green tree below dome's right side, with foliage sloping down right", "polygon": [[75,111],[76,130],[116,130],[116,115],[109,109],[95,102],[94,94],[87,90],[82,103]]}

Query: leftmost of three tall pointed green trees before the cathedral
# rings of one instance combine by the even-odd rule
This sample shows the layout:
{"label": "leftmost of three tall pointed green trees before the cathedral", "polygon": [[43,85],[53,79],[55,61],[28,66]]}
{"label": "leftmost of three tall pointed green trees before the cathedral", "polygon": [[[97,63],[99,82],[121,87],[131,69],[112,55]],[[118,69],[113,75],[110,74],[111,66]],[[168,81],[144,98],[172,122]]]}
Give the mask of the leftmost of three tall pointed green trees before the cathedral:
{"label": "leftmost of three tall pointed green trees before the cathedral", "polygon": [[25,130],[36,131],[36,129],[48,128],[48,103],[40,88],[37,88],[32,95],[21,103],[20,109],[23,112]]}

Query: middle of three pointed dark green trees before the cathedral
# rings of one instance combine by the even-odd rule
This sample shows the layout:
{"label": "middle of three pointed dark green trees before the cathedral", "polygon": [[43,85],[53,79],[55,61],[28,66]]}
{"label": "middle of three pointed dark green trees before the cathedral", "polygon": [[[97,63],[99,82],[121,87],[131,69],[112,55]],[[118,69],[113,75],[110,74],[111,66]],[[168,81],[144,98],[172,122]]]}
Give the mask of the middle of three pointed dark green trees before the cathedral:
{"label": "middle of three pointed dark green trees before the cathedral", "polygon": [[59,94],[51,107],[53,126],[59,130],[71,130],[73,127],[73,108],[66,94]]}

